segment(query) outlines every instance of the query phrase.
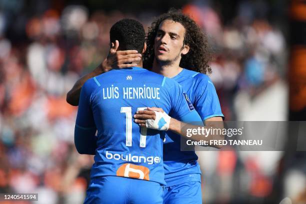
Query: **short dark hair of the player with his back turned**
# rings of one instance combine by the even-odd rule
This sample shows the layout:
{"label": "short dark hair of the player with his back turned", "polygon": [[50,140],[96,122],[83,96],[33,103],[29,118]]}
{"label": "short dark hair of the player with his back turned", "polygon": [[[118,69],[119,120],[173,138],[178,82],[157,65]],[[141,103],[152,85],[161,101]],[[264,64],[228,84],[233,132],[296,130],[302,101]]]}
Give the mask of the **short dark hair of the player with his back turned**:
{"label": "short dark hair of the player with his back turned", "polygon": [[135,49],[142,53],[145,32],[137,20],[123,18],[117,21],[111,26],[109,36],[110,42],[119,41],[119,50]]}

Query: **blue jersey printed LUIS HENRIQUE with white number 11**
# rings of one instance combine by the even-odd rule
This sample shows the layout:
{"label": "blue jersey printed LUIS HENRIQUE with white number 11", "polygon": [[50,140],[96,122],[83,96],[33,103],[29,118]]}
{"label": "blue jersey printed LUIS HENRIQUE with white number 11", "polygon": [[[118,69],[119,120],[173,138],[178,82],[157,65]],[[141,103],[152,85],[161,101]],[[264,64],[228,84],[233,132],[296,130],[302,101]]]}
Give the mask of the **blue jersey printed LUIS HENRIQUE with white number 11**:
{"label": "blue jersey printed LUIS HENRIQUE with white number 11", "polygon": [[152,106],[178,117],[195,112],[183,93],[173,79],[140,67],[113,69],[88,79],[81,89],[76,125],[97,129],[91,178],[113,175],[165,184],[165,132],[139,127],[132,116]]}

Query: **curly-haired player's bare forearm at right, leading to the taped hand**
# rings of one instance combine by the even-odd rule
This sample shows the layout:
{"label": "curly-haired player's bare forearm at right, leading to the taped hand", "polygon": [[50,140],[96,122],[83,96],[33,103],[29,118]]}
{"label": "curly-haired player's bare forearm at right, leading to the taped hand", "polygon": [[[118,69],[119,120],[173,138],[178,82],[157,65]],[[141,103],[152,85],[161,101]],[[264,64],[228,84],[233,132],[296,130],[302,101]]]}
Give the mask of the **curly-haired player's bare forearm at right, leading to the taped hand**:
{"label": "curly-haired player's bare forearm at right, leading to the taped hand", "polygon": [[[212,128],[211,128],[212,127]],[[193,125],[185,122],[178,121],[177,119],[171,118],[169,129],[170,131],[181,135],[185,139],[191,139],[192,141],[207,141],[210,143],[210,140],[223,140],[224,136],[222,134],[217,134],[220,131],[213,131],[216,128],[223,128],[223,122],[219,122],[218,124],[205,126],[205,125]],[[188,130],[189,129],[189,130]],[[190,129],[196,129],[192,132],[190,136]],[[215,134],[214,134],[215,133]],[[187,136],[189,135],[189,136]],[[221,145],[211,145],[216,148],[221,148]]]}

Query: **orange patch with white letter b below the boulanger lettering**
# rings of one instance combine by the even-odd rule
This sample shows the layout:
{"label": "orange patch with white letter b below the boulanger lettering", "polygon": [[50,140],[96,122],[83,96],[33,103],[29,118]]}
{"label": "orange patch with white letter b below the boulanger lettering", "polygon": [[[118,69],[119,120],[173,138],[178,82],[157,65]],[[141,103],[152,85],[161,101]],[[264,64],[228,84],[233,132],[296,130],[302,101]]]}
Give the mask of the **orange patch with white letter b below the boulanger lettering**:
{"label": "orange patch with white letter b below the boulanger lettering", "polygon": [[122,164],[117,170],[117,176],[138,178],[143,180],[150,180],[149,178],[150,170],[141,165],[135,165],[131,163]]}

